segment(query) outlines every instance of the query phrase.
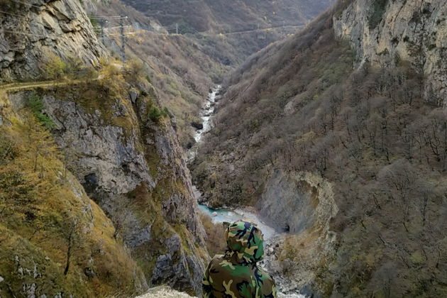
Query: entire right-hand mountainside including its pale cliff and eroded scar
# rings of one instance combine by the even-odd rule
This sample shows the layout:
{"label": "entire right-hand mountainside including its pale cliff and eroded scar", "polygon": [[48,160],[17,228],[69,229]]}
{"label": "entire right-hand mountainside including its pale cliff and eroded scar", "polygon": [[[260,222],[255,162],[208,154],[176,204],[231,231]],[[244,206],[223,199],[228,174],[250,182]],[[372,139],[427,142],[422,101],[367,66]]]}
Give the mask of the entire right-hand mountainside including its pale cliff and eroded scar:
{"label": "entire right-hand mountainside including its pale cliff and eroded scar", "polygon": [[446,21],[444,0],[339,1],[224,84],[194,180],[292,233],[289,287],[447,296]]}

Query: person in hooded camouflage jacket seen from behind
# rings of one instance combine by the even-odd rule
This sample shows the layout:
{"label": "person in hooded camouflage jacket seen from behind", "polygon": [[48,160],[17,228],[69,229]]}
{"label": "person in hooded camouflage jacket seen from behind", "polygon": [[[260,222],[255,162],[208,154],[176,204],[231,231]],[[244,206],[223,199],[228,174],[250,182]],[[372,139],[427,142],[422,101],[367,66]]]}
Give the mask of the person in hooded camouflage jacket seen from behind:
{"label": "person in hooded camouflage jacket seen from behind", "polygon": [[202,282],[204,298],[275,298],[275,281],[257,263],[264,258],[258,226],[236,221],[225,232],[228,248],[208,265]]}

